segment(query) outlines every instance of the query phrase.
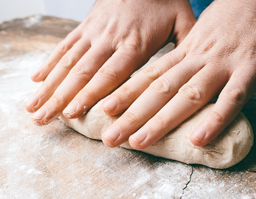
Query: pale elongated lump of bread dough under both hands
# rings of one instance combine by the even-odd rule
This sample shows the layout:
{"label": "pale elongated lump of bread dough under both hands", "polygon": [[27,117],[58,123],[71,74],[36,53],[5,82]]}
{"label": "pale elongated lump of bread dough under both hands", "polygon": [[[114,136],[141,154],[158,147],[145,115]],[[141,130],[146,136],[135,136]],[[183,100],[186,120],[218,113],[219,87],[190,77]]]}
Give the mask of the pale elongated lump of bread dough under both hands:
{"label": "pale elongated lump of bread dough under both hands", "polygon": [[[101,140],[101,134],[120,117],[110,116],[101,108],[103,100],[94,105],[85,115],[77,119],[60,119],[69,127],[86,137]],[[201,164],[212,168],[227,168],[240,162],[253,145],[252,127],[239,113],[234,121],[221,134],[203,147],[194,146],[189,136],[209,112],[213,104],[207,104],[177,128],[155,144],[141,150],[154,156],[178,160],[188,164]],[[132,149],[129,142],[121,145]]]}

